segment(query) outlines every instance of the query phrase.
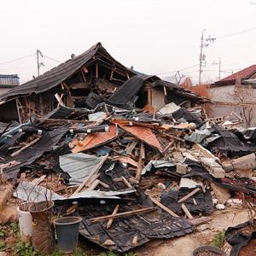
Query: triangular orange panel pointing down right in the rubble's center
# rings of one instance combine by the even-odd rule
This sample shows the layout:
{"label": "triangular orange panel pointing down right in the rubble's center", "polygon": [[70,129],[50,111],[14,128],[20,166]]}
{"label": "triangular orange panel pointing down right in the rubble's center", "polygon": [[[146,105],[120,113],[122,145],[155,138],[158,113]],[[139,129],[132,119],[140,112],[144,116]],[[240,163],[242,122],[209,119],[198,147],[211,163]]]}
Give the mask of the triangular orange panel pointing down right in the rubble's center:
{"label": "triangular orange panel pointing down right in the rubble's center", "polygon": [[115,119],[114,122],[117,122],[120,128],[131,133],[133,136],[137,137],[144,143],[147,143],[149,146],[158,149],[160,152],[163,151],[163,148],[160,145],[159,140],[157,139],[157,137],[154,135],[153,131],[151,131],[150,128],[139,125],[122,125],[122,122],[119,122],[119,120],[117,119]]}

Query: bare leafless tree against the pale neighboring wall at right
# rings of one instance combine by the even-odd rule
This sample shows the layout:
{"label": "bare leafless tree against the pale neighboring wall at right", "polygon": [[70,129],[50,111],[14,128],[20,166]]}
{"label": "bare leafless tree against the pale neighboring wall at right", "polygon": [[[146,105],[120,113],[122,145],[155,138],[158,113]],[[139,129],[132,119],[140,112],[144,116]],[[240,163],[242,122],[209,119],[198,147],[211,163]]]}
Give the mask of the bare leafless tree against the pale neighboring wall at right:
{"label": "bare leafless tree against the pale neighboring wall at right", "polygon": [[241,84],[241,79],[236,79],[235,89],[231,96],[240,103],[238,104],[240,115],[246,126],[251,126],[253,120],[253,89],[251,85]]}

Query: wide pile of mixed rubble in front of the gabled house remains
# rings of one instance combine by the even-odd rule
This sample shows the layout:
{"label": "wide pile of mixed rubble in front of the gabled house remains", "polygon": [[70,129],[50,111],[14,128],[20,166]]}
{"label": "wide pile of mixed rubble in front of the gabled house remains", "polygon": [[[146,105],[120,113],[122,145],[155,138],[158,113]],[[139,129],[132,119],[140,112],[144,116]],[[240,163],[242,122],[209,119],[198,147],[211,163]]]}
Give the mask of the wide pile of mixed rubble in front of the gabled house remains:
{"label": "wide pile of mixed rubble in front of the gabled house remains", "polygon": [[101,103],[1,123],[1,177],[17,200],[82,217],[80,235],[110,250],[184,236],[214,206],[255,201],[256,129],[216,124],[225,121],[201,109]]}

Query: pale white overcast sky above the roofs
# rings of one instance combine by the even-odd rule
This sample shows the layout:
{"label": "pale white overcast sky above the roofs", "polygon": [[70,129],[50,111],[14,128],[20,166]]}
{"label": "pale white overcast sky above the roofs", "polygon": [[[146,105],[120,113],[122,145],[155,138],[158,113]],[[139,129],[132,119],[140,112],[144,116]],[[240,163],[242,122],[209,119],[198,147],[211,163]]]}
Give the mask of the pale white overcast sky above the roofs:
{"label": "pale white overcast sky above the roofs", "polygon": [[[215,80],[218,72],[212,70],[218,65],[212,62],[218,57],[222,77],[227,70],[256,64],[255,12],[256,5],[247,0],[2,0],[0,73],[18,73],[23,83],[37,74],[36,49],[66,61],[102,42],[126,67],[172,76],[198,64],[201,31],[207,29],[205,35],[217,39],[204,49],[202,79]],[[41,73],[58,65],[43,61]],[[197,80],[198,69],[183,73]]]}

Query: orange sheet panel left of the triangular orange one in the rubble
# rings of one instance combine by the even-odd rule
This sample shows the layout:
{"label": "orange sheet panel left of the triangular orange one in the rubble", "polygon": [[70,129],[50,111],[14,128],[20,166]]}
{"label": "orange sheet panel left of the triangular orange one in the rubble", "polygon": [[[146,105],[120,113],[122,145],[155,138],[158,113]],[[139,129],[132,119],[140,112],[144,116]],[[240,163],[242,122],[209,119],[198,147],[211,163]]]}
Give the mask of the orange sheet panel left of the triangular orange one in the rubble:
{"label": "orange sheet panel left of the triangular orange one in the rubble", "polygon": [[108,132],[96,132],[89,134],[83,141],[76,143],[73,148],[73,153],[79,153],[81,151],[88,150],[90,148],[96,148],[106,143],[113,141],[118,136],[118,129],[116,125],[109,125]]}

